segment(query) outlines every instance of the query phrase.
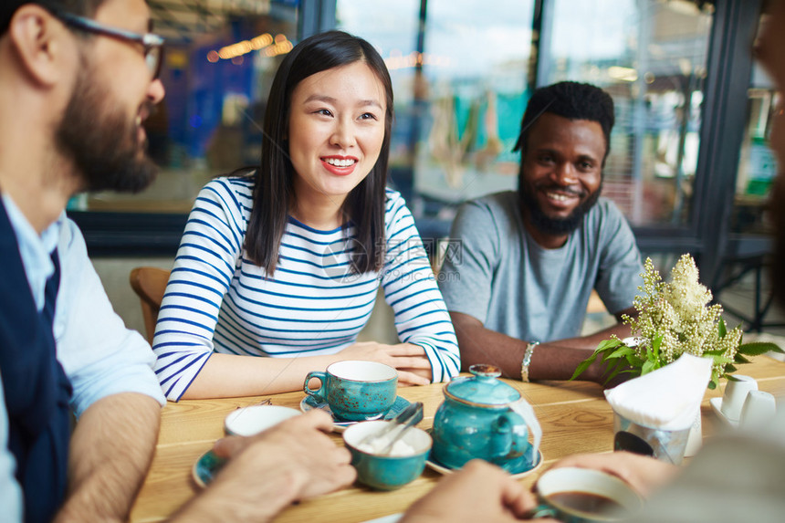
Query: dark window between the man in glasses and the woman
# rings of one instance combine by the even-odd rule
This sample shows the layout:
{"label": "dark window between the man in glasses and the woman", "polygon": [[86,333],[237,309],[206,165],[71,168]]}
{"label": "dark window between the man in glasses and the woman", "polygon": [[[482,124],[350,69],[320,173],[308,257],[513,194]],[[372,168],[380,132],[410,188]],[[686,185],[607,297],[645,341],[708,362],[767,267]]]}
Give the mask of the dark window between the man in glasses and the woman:
{"label": "dark window between the man in glasses and the woman", "polygon": [[298,4],[149,0],[166,37],[166,98],[145,123],[161,172],[141,194],[82,194],[69,208],[184,214],[211,178],[258,162],[267,92],[297,39]]}

